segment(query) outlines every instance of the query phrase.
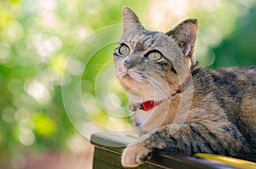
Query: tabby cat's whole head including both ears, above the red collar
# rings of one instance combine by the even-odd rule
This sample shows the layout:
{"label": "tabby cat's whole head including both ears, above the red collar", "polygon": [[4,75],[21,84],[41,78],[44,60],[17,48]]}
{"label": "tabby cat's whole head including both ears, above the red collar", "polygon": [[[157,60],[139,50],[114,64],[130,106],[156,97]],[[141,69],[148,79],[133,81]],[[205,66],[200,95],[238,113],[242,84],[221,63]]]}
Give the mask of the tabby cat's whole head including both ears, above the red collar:
{"label": "tabby cat's whole head including both ears, above the red collar", "polygon": [[123,35],[113,60],[131,101],[162,100],[175,92],[196,64],[196,35],[196,20],[166,33],[147,31],[130,8],[123,8]]}

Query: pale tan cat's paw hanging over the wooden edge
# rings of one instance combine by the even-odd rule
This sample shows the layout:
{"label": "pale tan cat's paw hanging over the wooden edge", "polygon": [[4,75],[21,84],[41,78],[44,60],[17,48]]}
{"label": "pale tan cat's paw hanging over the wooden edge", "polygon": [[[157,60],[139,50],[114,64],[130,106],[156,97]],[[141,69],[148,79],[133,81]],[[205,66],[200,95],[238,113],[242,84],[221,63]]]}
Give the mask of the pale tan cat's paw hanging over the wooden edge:
{"label": "pale tan cat's paw hanging over the wooden edge", "polygon": [[122,154],[122,165],[134,167],[142,164],[151,157],[152,152],[147,147],[139,144],[129,145]]}

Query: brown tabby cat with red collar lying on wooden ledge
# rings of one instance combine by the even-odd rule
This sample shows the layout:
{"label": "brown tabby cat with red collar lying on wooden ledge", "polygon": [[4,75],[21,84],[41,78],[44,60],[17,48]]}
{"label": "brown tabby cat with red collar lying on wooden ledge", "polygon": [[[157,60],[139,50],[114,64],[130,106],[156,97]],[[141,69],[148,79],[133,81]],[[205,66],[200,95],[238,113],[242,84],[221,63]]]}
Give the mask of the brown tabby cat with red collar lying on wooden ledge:
{"label": "brown tabby cat with red collar lying on wooden ledge", "polygon": [[123,166],[138,166],[155,150],[256,154],[256,66],[198,66],[197,29],[197,20],[189,19],[166,33],[147,31],[123,8],[113,61],[141,135],[124,149]]}

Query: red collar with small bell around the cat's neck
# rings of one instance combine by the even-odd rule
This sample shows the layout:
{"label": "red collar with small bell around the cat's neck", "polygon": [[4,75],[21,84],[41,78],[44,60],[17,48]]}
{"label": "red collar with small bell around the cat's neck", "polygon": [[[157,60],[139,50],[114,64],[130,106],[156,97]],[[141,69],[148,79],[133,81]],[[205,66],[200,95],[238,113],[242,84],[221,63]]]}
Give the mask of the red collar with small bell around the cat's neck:
{"label": "red collar with small bell around the cat's neck", "polygon": [[[192,75],[189,73],[185,81],[177,87],[177,90],[175,91],[175,93],[172,93],[167,99],[171,99],[172,97],[176,96],[178,93],[183,93],[183,91],[187,88],[187,84],[191,78],[192,78]],[[130,110],[135,111],[137,109],[140,109],[140,110],[148,111],[153,109],[155,106],[161,104],[165,100],[166,99],[160,100],[160,101],[148,100],[143,103],[137,103],[137,104],[131,103]]]}

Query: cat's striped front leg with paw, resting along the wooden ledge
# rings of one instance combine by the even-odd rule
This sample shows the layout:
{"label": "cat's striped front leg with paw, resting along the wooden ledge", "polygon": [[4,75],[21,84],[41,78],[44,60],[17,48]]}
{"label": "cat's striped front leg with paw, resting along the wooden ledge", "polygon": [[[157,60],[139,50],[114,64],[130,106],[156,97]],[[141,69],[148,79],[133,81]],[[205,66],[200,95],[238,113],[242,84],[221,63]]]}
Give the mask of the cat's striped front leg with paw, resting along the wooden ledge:
{"label": "cat's striped front leg with paw, resting along the wooden ledge", "polygon": [[[138,166],[148,160],[154,149],[186,155],[202,152],[233,156],[250,152],[245,138],[228,122],[224,126],[215,123],[184,123],[175,133],[172,133],[171,128],[171,125],[160,127],[143,135],[137,143],[128,145],[122,155],[122,165]],[[227,130],[229,132],[224,132]]]}

